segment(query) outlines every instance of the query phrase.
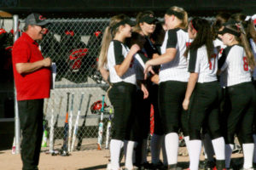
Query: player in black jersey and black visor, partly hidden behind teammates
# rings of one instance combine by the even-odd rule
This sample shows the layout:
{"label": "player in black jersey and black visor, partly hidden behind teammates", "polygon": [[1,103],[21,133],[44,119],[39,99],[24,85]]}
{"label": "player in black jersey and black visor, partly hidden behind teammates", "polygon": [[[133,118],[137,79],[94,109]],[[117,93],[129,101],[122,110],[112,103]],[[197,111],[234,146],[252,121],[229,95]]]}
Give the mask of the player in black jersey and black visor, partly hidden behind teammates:
{"label": "player in black jersey and black visor, partly hidden behind teammates", "polygon": [[[158,56],[160,52],[154,46],[154,43],[151,41],[151,36],[155,31],[156,26],[156,18],[154,17],[154,13],[152,11],[145,11],[143,13],[137,14],[137,26],[135,27],[134,31],[140,33],[145,38],[145,43],[143,45],[142,51],[148,59],[154,58],[154,56]],[[154,71],[158,74],[159,66],[154,67]],[[157,80],[154,83],[154,80]],[[148,88],[148,99],[143,100],[143,103],[147,109],[143,109],[144,118],[143,122],[147,122],[146,129],[144,130],[143,136],[143,159],[142,164],[143,167],[161,167],[163,166],[160,162],[160,147],[162,143],[163,132],[161,128],[161,121],[160,115],[158,111],[158,75],[152,75],[146,81],[146,85]],[[150,149],[151,149],[151,156],[152,156],[152,165],[148,165],[147,161],[147,139],[149,133],[149,122],[150,122],[150,106],[154,105],[154,134],[151,139]],[[141,123],[143,126],[143,124]],[[145,127],[142,127],[145,128]]]}

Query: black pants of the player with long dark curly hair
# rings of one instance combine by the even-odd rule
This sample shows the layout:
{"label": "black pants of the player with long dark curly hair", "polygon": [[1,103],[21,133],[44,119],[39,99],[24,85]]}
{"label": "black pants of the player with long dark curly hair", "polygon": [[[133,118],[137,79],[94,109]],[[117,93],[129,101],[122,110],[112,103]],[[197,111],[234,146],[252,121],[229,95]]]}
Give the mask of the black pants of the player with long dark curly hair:
{"label": "black pants of the player with long dark curly hair", "polygon": [[221,88],[218,82],[196,83],[189,101],[189,139],[201,139],[202,127],[212,139],[222,136],[219,125]]}

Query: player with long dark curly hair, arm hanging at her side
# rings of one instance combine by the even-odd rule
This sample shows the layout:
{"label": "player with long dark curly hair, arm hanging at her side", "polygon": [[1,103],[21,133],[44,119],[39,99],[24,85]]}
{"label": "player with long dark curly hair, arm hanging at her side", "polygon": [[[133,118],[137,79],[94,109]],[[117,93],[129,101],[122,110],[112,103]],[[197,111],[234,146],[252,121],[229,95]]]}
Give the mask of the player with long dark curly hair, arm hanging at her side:
{"label": "player with long dark curly hair, arm hanging at her side", "polygon": [[[214,50],[207,20],[199,18],[191,20],[189,38],[194,41],[185,52],[189,57],[190,76],[183,100],[183,109],[189,108],[189,169],[198,169],[201,154],[201,128],[205,124],[212,138],[217,159],[216,167],[218,170],[224,169],[224,138],[218,123],[218,105],[221,95],[217,81],[218,53]],[[192,94],[193,97],[191,97]]]}

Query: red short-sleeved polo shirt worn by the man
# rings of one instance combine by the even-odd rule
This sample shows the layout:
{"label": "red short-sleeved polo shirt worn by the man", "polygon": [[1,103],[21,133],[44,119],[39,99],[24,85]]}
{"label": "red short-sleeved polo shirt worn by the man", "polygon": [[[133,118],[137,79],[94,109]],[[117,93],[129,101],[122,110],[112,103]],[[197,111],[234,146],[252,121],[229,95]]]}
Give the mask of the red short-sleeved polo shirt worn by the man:
{"label": "red short-sleeved polo shirt worn by the man", "polygon": [[12,51],[13,69],[17,100],[49,98],[51,73],[49,68],[41,68],[31,73],[19,74],[16,63],[33,63],[44,59],[38,43],[25,32],[15,42]]}

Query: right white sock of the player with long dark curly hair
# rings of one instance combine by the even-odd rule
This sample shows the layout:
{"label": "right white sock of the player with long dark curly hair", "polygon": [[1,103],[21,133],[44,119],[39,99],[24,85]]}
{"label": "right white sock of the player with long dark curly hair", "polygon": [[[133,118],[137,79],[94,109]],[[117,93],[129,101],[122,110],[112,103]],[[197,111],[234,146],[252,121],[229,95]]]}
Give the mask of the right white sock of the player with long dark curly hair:
{"label": "right white sock of the player with long dark curly hair", "polygon": [[212,140],[212,146],[217,160],[225,159],[225,141],[223,137]]}

